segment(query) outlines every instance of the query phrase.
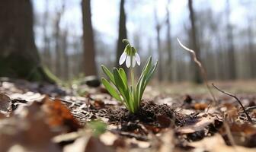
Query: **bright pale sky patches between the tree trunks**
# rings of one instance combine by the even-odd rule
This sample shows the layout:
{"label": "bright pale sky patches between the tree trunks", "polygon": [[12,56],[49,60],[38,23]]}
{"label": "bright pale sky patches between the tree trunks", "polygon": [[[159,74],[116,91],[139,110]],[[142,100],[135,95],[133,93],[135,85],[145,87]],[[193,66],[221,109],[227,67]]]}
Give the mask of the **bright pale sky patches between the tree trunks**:
{"label": "bright pale sky patches between the tree trunks", "polygon": [[[61,27],[69,27],[74,34],[82,35],[82,0],[66,0],[66,12],[61,21]],[[34,8],[37,12],[43,13],[46,0],[34,0]],[[56,10],[61,8],[62,0],[49,2],[50,13],[55,14]],[[168,0],[126,0],[126,27],[128,38],[133,38],[133,33],[139,33],[143,37],[155,37],[155,18],[154,9],[157,8],[158,20],[165,20],[165,7]],[[246,9],[239,5],[238,0],[230,0],[232,7],[233,24],[242,24]],[[105,43],[115,43],[118,32],[120,0],[91,0],[92,24],[95,30],[104,35]],[[197,10],[206,8],[207,5],[213,8],[213,11],[223,11],[225,0],[194,0],[194,7]],[[180,32],[184,23],[188,22],[187,0],[171,0],[169,7],[171,11],[172,34]],[[186,21],[187,20],[187,21]],[[153,32],[152,32],[153,31]],[[185,34],[185,33],[184,33]],[[144,40],[148,41],[148,40]],[[143,43],[143,40],[142,40]]]}

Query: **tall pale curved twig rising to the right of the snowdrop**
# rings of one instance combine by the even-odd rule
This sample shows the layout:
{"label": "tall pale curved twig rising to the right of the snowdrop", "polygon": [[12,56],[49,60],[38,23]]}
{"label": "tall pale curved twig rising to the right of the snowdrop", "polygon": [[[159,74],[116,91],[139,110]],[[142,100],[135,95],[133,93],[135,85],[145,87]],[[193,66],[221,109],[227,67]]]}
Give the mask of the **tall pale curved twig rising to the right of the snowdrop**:
{"label": "tall pale curved twig rising to the right of the snowdrop", "polygon": [[[184,46],[178,38],[177,38],[177,40],[178,40],[178,43],[180,44],[180,46],[181,46],[183,49],[187,50],[188,52],[190,52],[190,53],[193,55],[194,62],[196,62],[197,65],[198,65],[199,68],[200,68],[201,74],[202,74],[202,76],[203,76],[204,84],[206,85],[207,90],[209,90],[210,95],[213,97],[213,101],[217,104],[216,97],[214,96],[212,90],[210,90],[210,87],[209,87],[209,84],[208,84],[208,78],[207,78],[206,70],[203,68],[203,65],[201,64],[201,62],[198,61],[196,52],[194,52],[194,50],[188,49],[186,46]],[[208,109],[210,109],[210,106],[208,107]]]}

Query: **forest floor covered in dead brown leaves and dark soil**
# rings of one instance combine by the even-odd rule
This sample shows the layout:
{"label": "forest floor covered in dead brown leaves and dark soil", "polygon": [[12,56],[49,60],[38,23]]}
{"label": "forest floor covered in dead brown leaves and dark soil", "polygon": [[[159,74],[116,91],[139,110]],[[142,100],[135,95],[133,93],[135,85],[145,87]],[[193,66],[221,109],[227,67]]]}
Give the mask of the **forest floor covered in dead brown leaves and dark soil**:
{"label": "forest floor covered in dead brown leaves and dark soil", "polygon": [[0,151],[256,151],[256,81],[214,84],[245,111],[203,85],[153,82],[131,114],[104,87],[2,78]]}

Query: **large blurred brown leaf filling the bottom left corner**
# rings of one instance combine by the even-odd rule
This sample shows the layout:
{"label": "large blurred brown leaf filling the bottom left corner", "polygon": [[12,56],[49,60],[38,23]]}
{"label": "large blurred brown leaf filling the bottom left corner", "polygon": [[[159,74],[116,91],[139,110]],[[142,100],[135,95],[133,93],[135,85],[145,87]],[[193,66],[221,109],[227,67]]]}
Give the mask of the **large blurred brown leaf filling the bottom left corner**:
{"label": "large blurred brown leaf filling the bottom left corner", "polygon": [[17,144],[25,151],[60,151],[51,141],[54,134],[38,104],[27,108],[27,116],[12,116],[1,121],[5,123],[0,126],[0,151],[8,151]]}

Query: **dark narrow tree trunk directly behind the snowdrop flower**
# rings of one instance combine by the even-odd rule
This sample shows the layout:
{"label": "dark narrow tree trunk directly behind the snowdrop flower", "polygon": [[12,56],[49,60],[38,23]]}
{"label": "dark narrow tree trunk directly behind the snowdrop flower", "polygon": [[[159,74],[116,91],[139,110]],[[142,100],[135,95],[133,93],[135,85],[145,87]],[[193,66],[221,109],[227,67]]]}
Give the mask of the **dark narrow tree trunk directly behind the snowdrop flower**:
{"label": "dark narrow tree trunk directly behind the snowdrop flower", "polygon": [[[120,67],[119,58],[123,53],[123,49],[126,44],[122,42],[123,39],[127,39],[127,30],[126,30],[126,13],[124,8],[125,0],[120,1],[120,15],[119,15],[119,31],[118,31],[118,40],[117,40],[117,59],[116,59],[116,67]],[[121,65],[124,68],[124,65]]]}

